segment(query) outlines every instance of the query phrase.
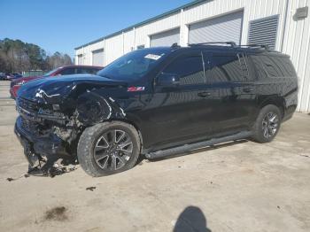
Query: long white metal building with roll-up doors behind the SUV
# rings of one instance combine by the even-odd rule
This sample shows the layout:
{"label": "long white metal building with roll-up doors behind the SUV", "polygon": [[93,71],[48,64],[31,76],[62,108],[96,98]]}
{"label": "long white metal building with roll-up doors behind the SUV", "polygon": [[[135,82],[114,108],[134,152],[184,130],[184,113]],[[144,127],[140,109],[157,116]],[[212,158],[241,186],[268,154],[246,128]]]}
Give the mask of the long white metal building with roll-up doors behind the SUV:
{"label": "long white metal building with roll-up doors behind the SUV", "polygon": [[200,0],[75,48],[76,65],[106,66],[130,50],[178,43],[264,43],[298,72],[298,111],[310,111],[310,0]]}

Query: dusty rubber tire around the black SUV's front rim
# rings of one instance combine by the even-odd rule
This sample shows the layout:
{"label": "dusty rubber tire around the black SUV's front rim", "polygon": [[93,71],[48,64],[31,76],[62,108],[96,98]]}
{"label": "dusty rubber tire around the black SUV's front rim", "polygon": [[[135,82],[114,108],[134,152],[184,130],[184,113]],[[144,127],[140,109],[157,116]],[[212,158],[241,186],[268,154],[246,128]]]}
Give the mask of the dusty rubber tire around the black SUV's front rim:
{"label": "dusty rubber tire around the black SUV's front rim", "polygon": [[[120,150],[115,151],[116,148],[113,148],[114,149],[113,152],[107,152],[107,151],[112,151],[113,142],[111,142],[110,144],[106,136],[109,135],[108,133],[110,132],[113,133],[113,131],[115,132],[115,139],[112,138],[113,141],[117,140],[116,131],[118,132],[121,131],[121,132],[126,133],[126,136],[127,136],[126,139],[128,139],[128,141],[129,139],[131,140],[132,144],[130,144],[129,146],[132,146],[130,148],[130,151],[132,151],[132,153],[130,154],[130,156],[125,155],[125,153],[120,154],[120,152],[122,151]],[[102,143],[102,141],[104,141],[104,143],[108,145],[98,145],[99,143]],[[106,146],[109,146],[109,147],[105,148]],[[95,150],[98,147],[99,149],[102,148],[102,150],[104,151]],[[117,174],[117,173],[120,173],[120,172],[123,172],[123,171],[126,171],[132,168],[133,166],[135,166],[136,160],[139,158],[140,151],[141,151],[141,142],[140,142],[140,137],[138,135],[138,132],[136,131],[136,128],[134,128],[132,125],[125,123],[125,122],[112,121],[112,122],[99,123],[93,127],[86,128],[83,131],[83,133],[81,134],[79,143],[78,143],[77,157],[81,165],[81,168],[87,174],[94,176],[94,177],[98,177],[98,176],[104,176],[104,175],[110,175],[110,174]],[[102,163],[99,163],[98,159],[96,159],[97,161],[95,160],[95,158],[97,158],[97,152],[103,152],[104,154],[106,153],[106,154],[111,154],[111,155],[108,158],[106,158],[106,155],[105,155],[105,158],[103,159],[104,161]],[[121,160],[123,160],[124,162],[123,161],[120,162],[120,159],[118,159],[119,165],[124,164],[118,169],[116,169],[117,161],[115,161],[114,166],[112,165],[114,164],[112,160],[117,160],[115,159],[116,153],[118,154],[118,157],[122,157],[123,155],[125,155],[126,159],[128,159],[126,160],[122,158]],[[112,157],[114,157],[114,159],[112,159]],[[109,166],[109,164],[111,165],[110,168],[107,167]],[[104,167],[101,167],[99,165],[104,166]]]}

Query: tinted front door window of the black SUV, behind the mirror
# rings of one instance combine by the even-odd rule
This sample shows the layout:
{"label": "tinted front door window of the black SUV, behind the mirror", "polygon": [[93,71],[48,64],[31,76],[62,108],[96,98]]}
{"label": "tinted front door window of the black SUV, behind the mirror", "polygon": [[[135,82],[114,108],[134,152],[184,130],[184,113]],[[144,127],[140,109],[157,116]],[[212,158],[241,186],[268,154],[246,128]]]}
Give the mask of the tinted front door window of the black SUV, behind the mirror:
{"label": "tinted front door window of the black SUV, behind the mirror", "polygon": [[181,85],[205,83],[202,60],[201,54],[182,56],[176,58],[163,72],[178,74]]}

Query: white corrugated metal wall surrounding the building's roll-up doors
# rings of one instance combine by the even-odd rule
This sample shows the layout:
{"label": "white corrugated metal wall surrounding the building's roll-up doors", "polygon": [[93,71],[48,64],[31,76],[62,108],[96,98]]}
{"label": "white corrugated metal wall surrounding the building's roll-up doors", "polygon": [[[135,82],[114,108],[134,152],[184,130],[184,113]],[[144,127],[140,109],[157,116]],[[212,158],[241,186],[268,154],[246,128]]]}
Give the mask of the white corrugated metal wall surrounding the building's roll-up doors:
{"label": "white corrugated metal wall surrounding the building's roll-up doors", "polygon": [[[244,11],[241,43],[248,42],[249,22],[279,15],[275,50],[282,50],[291,56],[299,77],[298,111],[310,111],[310,15],[306,19],[295,19],[298,7],[309,6],[310,0],[214,0],[205,1],[178,13],[148,22],[142,26],[132,28],[120,35],[114,35],[105,41],[85,46],[75,50],[77,56],[83,54],[83,63],[91,65],[91,50],[95,44],[105,48],[105,66],[115,58],[134,49],[139,45],[150,46],[150,36],[167,31],[175,27],[181,28],[180,43],[182,46],[189,42],[190,24],[213,19],[229,12]],[[288,3],[288,4],[287,4]],[[286,6],[288,8],[286,9]],[[287,15],[286,15],[287,12]],[[285,23],[285,18],[286,23]]]}

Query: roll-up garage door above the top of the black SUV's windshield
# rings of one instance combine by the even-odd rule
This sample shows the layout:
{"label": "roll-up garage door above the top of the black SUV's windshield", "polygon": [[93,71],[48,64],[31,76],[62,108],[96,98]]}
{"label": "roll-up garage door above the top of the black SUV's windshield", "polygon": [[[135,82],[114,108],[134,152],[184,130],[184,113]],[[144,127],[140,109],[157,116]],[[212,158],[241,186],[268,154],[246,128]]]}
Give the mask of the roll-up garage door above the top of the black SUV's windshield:
{"label": "roll-up garage door above the top of the black SUV's windshield", "polygon": [[180,43],[180,28],[151,35],[151,47],[171,46]]}

